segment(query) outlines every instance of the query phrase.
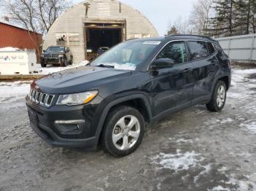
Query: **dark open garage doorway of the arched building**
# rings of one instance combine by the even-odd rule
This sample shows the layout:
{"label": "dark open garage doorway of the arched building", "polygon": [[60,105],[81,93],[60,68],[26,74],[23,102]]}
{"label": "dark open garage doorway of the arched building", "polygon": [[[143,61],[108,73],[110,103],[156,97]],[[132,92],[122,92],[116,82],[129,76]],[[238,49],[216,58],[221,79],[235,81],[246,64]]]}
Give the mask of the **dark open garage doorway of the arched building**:
{"label": "dark open garage doorway of the arched building", "polygon": [[86,28],[86,52],[90,61],[101,50],[107,50],[122,42],[121,28]]}

